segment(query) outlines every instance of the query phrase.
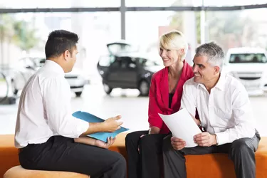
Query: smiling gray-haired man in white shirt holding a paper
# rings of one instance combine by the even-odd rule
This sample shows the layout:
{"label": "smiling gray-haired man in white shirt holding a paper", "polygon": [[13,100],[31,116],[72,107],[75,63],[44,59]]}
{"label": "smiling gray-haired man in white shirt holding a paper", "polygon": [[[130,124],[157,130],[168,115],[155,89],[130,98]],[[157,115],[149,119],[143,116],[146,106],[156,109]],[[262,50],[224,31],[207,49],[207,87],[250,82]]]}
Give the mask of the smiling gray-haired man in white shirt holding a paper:
{"label": "smiling gray-haired man in white shirt holding a paper", "polygon": [[[255,177],[255,154],[260,135],[244,86],[221,73],[224,51],[214,42],[199,46],[194,56],[194,78],[184,83],[181,108],[194,115],[196,108],[206,132],[194,136],[197,147],[184,140],[164,138],[164,177],[187,177],[184,155],[226,153],[234,162],[236,177]],[[196,121],[197,122],[197,121]]]}

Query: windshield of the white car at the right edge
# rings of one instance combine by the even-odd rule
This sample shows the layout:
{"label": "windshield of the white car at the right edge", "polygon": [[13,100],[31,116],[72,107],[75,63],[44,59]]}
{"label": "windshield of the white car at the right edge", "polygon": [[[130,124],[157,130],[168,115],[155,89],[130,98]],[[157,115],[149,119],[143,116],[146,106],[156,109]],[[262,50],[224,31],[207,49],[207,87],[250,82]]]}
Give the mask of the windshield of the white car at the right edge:
{"label": "windshield of the white car at the right edge", "polygon": [[267,63],[264,53],[231,54],[229,63]]}

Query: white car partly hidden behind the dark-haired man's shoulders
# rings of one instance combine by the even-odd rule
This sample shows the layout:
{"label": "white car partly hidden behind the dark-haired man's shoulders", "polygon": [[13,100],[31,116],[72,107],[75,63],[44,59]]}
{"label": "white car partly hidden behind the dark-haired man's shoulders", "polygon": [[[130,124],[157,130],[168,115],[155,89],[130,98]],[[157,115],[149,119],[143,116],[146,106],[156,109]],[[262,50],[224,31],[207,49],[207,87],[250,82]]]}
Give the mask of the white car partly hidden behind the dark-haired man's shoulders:
{"label": "white car partly hidden behind the dark-haired man's shoulders", "polygon": [[[14,95],[17,95],[19,90],[22,90],[28,78],[33,75],[46,61],[45,58],[21,58],[18,65],[15,68],[14,75],[11,76],[11,86]],[[65,74],[65,78],[70,84],[70,90],[75,93],[76,96],[80,96],[83,93],[83,87],[87,83],[83,75],[79,70],[73,68],[73,71]]]}

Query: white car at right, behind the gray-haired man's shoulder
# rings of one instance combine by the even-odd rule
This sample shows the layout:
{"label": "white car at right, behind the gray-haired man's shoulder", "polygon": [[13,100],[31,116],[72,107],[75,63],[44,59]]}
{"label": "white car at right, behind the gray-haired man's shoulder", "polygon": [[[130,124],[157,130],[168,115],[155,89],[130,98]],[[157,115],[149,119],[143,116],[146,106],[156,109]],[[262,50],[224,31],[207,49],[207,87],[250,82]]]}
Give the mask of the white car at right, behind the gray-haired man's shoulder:
{"label": "white car at right, behind the gray-haired man's shoulder", "polygon": [[262,95],[267,90],[267,55],[263,48],[230,48],[224,71],[239,79],[248,95]]}

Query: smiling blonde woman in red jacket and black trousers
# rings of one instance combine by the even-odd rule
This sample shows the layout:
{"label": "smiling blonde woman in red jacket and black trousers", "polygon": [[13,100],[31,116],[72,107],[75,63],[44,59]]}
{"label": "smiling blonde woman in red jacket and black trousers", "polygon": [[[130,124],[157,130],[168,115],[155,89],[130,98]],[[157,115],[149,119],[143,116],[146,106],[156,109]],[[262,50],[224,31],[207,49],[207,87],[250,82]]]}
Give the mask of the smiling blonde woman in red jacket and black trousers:
{"label": "smiling blonde woman in red jacket and black trousers", "polygon": [[170,31],[159,38],[159,56],[165,66],[152,76],[149,95],[148,122],[150,130],[127,135],[129,178],[161,177],[162,141],[169,128],[158,113],[165,115],[180,108],[184,82],[194,76],[192,67],[184,60],[188,43],[180,31]]}

